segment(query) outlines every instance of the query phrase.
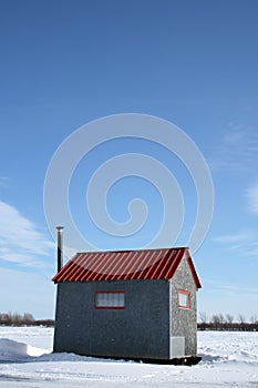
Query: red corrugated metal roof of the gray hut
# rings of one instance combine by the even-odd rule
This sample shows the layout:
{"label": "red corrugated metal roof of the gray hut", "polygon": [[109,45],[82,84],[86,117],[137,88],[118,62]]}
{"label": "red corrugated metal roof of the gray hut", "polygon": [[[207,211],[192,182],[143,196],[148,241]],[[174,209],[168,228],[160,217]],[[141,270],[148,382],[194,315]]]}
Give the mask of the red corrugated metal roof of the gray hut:
{"label": "red corrugated metal roof of the gray hut", "polygon": [[171,279],[183,257],[187,259],[196,287],[200,288],[185,247],[78,253],[53,277],[53,282]]}

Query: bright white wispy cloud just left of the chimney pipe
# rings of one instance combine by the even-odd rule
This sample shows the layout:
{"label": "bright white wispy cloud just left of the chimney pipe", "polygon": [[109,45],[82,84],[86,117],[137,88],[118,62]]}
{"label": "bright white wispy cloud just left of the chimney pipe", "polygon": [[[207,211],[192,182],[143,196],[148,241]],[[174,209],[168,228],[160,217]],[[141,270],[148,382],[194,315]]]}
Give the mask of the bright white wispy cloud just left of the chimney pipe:
{"label": "bright white wispy cloud just left of the chimney pipe", "polygon": [[13,206],[0,201],[0,258],[30,267],[47,266],[54,244]]}

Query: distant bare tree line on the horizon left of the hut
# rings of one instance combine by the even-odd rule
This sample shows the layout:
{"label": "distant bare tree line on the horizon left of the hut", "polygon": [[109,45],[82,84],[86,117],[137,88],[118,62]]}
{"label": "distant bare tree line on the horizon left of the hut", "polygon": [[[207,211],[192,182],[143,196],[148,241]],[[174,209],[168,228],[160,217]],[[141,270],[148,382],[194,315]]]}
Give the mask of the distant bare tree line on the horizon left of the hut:
{"label": "distant bare tree line on the horizon left of the hut", "polygon": [[0,313],[1,326],[54,326],[53,319],[35,319],[30,313]]}

